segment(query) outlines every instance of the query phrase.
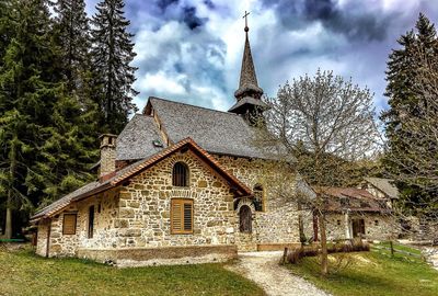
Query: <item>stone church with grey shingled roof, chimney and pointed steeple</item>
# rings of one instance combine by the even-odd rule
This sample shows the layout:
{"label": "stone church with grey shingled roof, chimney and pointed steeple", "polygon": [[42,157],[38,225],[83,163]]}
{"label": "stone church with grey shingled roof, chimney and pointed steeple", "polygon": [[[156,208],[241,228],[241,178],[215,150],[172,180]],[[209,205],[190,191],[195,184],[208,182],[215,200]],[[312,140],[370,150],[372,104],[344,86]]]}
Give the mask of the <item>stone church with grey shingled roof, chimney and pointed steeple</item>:
{"label": "stone church with grey shingled roof, chimney and pointed steeple", "polygon": [[[101,136],[99,178],[37,212],[36,253],[117,266],[221,262],[300,246],[293,193],[277,195],[254,144],[261,100],[249,29],[228,112],[149,98],[119,135]],[[297,186],[298,187],[298,186]]]}

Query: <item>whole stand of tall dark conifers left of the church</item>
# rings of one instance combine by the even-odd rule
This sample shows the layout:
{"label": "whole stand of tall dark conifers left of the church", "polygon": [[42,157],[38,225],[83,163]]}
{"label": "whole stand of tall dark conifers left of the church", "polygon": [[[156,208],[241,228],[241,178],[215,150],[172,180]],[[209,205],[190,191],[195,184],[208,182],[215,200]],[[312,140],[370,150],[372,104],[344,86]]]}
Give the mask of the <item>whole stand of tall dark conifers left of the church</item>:
{"label": "whole stand of tall dark conifers left of the church", "polygon": [[[114,15],[103,12],[107,8],[115,8]],[[103,20],[102,13],[113,19]],[[113,31],[123,37],[111,31],[96,33],[108,22],[118,24]],[[84,0],[0,1],[0,228],[4,237],[20,232],[35,208],[92,181],[97,136],[119,133],[135,110],[135,68],[129,66],[135,54],[128,24],[120,0],[100,3],[93,27]],[[108,50],[96,50],[103,39],[117,44],[112,58]],[[123,75],[111,76],[104,69]]]}

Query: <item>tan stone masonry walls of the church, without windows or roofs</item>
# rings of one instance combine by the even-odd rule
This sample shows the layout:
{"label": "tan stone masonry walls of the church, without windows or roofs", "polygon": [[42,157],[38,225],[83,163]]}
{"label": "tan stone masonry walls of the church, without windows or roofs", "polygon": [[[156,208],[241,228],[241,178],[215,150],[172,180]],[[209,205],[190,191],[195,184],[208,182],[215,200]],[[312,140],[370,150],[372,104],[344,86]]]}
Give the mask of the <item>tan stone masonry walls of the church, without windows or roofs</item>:
{"label": "tan stone masonry walls of the church, without windows or roofs", "polygon": [[[276,197],[261,178],[263,172],[256,161],[216,157],[247,186],[263,185],[263,212],[256,212],[250,198],[239,201],[235,208],[229,185],[191,150],[180,151],[131,178],[124,185],[77,202],[54,216],[51,221],[39,224],[37,253],[46,254],[49,223],[49,257],[84,257],[102,262],[115,262],[118,259],[118,265],[223,261],[235,255],[235,247],[241,251],[254,251],[298,243],[298,210],[293,196],[290,200]],[[172,169],[178,161],[186,163],[189,169],[187,187],[172,185]],[[194,201],[192,235],[171,234],[172,198]],[[252,234],[239,232],[238,213],[243,204],[252,209]],[[95,210],[93,238],[88,236],[91,205]],[[67,213],[77,214],[76,235],[62,235],[64,214]],[[204,255],[199,259],[197,254],[200,249],[197,248],[201,247],[210,247],[210,254],[205,251],[207,249],[201,249]],[[172,261],[166,254],[175,254],[174,248],[192,248],[194,253]],[[132,250],[137,250],[136,259],[129,260],[126,254],[132,253]],[[154,250],[153,255],[150,250]]]}

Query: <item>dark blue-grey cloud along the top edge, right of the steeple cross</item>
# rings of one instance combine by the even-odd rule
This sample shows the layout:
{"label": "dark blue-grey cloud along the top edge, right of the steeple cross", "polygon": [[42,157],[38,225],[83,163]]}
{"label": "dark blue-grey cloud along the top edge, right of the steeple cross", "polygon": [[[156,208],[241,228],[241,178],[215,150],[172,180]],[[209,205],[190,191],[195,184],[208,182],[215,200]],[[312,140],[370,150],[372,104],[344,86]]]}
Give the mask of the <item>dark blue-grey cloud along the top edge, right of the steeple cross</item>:
{"label": "dark blue-grey cloud along the top edge, right of the steeple cross", "polygon": [[341,8],[334,0],[264,0],[275,9],[281,24],[291,30],[311,22],[321,22],[328,31],[354,41],[382,41],[387,37],[393,15],[369,11],[367,1],[356,1]]}

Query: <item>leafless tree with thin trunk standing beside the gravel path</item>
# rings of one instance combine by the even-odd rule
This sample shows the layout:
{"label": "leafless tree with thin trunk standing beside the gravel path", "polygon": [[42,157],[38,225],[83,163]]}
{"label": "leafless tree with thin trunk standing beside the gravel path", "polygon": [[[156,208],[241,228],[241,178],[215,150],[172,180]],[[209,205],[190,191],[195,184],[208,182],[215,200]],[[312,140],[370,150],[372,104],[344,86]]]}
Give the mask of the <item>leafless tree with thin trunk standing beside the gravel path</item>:
{"label": "leafless tree with thin trunk standing beside the gravel path", "polygon": [[[372,94],[332,71],[319,70],[314,78],[304,76],[287,82],[280,87],[277,98],[266,101],[272,109],[265,113],[267,133],[261,133],[260,141],[285,145],[288,155],[296,158],[302,178],[315,185],[316,198],[312,204],[319,215],[321,272],[326,274],[324,198],[319,186],[337,184],[339,174],[333,166],[336,161],[367,159],[377,150],[379,133]],[[303,166],[312,169],[300,170]]]}

